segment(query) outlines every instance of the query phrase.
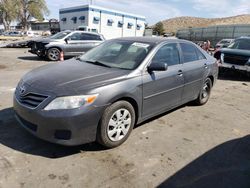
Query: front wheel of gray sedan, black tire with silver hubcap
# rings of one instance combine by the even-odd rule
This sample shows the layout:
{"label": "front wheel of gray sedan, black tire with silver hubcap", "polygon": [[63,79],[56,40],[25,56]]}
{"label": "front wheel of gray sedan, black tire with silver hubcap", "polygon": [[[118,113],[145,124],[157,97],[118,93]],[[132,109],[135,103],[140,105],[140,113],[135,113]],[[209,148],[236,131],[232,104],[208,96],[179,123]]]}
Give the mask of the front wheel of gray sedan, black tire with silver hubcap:
{"label": "front wheel of gray sedan, black tire with silver hubcap", "polygon": [[118,101],[105,109],[98,127],[97,142],[106,148],[117,147],[128,139],[134,124],[133,106],[127,101]]}

